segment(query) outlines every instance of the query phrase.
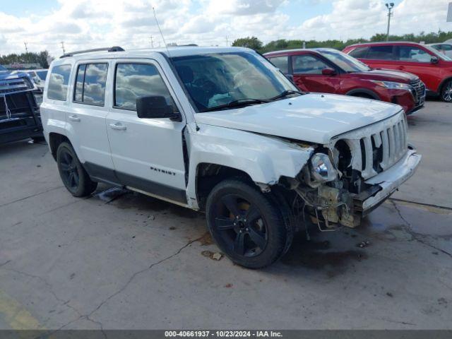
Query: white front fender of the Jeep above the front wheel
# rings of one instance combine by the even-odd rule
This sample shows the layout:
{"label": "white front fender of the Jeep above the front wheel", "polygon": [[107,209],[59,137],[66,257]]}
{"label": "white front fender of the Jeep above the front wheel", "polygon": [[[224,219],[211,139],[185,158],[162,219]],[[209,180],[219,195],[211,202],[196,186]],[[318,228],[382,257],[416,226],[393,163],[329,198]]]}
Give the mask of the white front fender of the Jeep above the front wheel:
{"label": "white front fender of the Jeep above the front wheel", "polygon": [[196,175],[198,165],[210,163],[239,169],[259,184],[275,184],[281,176],[295,178],[314,148],[281,138],[198,124],[189,139],[189,205],[198,208]]}

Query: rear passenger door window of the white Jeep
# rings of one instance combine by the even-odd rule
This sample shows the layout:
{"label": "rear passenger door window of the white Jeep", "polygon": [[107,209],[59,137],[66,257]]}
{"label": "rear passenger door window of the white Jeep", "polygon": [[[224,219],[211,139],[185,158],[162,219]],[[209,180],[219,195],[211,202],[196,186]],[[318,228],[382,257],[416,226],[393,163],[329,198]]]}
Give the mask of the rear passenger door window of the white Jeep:
{"label": "rear passenger door window of the white Jeep", "polygon": [[104,106],[108,64],[78,66],[73,101],[87,105]]}

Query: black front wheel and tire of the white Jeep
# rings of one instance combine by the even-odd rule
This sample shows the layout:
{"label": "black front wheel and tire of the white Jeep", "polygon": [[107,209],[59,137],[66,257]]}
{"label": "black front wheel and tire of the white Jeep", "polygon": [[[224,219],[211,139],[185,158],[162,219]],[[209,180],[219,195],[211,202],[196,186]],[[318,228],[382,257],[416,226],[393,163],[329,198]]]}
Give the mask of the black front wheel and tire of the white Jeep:
{"label": "black front wheel and tire of the white Jeep", "polygon": [[277,261],[292,241],[283,213],[270,194],[240,179],[220,182],[206,204],[210,234],[234,263],[263,268]]}

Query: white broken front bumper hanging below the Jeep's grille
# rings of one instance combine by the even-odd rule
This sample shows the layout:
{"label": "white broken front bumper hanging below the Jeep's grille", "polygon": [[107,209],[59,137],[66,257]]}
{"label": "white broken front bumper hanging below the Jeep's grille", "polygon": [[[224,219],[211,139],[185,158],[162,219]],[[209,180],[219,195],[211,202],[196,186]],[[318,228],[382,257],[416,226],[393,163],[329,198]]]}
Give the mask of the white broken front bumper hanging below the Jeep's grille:
{"label": "white broken front bumper hanging below the Jeep's grille", "polygon": [[410,149],[408,152],[396,162],[391,168],[384,172],[368,179],[365,183],[376,186],[375,194],[367,197],[365,200],[355,201],[355,206],[359,206],[362,210],[362,215],[367,215],[386,200],[391,194],[398,189],[398,187],[406,182],[413,174],[420,164],[422,155],[417,154],[415,149]]}

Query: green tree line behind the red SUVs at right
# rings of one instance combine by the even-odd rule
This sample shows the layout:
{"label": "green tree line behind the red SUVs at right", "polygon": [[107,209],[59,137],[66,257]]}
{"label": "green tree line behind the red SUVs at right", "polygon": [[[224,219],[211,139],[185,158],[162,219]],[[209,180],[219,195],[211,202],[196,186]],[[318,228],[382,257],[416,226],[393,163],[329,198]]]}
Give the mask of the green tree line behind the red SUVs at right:
{"label": "green tree line behind the red SUVs at right", "polygon": [[[405,35],[389,35],[389,41],[410,41],[410,42],[425,42],[426,44],[433,44],[436,42],[444,42],[446,40],[452,39],[452,32],[430,32],[425,34],[421,32],[418,35],[415,34],[405,34]],[[232,46],[236,47],[248,47],[254,49],[259,53],[266,53],[272,51],[278,51],[280,49],[296,49],[302,48],[303,42],[306,44],[306,48],[319,48],[319,47],[329,47],[334,49],[342,50],[350,44],[359,44],[362,42],[379,42],[386,41],[386,34],[376,34],[370,39],[349,39],[347,41],[341,40],[273,40],[268,42],[268,44],[263,44],[261,40],[257,37],[242,37],[234,40]]]}

